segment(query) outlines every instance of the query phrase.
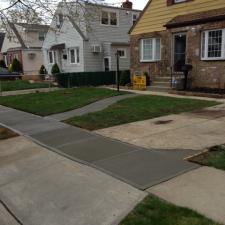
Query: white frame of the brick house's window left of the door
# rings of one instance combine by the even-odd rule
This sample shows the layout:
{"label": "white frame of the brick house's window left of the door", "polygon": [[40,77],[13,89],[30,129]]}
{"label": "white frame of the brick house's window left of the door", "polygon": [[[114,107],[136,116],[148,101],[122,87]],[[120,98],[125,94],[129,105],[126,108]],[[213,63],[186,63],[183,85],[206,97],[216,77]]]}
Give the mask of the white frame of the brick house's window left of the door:
{"label": "white frame of the brick house's window left of the door", "polygon": [[[152,59],[144,59],[144,40],[152,40]],[[159,59],[156,59],[156,39],[160,40],[160,52],[159,52]],[[141,51],[140,51],[140,61],[141,62],[158,62],[161,61],[161,38],[156,37],[156,38],[145,38],[141,39]]]}

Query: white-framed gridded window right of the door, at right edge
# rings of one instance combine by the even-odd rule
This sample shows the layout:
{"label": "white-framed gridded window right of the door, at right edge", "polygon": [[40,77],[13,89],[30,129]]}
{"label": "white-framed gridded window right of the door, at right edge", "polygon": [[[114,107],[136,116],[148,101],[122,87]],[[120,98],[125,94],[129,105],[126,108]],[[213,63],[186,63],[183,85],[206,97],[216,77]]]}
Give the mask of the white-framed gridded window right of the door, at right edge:
{"label": "white-framed gridded window right of the door, at right edge", "polygon": [[202,60],[225,59],[225,29],[202,33]]}

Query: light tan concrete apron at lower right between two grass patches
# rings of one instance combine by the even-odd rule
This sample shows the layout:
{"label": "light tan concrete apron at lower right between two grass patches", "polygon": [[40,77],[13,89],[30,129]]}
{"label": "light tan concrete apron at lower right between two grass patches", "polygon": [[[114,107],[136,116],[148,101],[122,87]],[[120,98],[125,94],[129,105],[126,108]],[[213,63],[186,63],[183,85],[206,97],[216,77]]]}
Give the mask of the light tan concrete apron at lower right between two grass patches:
{"label": "light tan concrete apron at lower right between two grass patches", "polygon": [[225,171],[201,167],[148,192],[225,224]]}

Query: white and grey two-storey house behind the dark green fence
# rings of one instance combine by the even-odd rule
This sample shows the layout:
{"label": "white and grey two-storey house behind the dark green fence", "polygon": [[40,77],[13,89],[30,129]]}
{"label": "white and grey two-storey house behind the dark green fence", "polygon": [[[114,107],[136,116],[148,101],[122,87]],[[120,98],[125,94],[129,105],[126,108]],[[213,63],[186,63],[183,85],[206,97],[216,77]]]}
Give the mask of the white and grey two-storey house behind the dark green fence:
{"label": "white and grey two-storey house behind the dark green fence", "polygon": [[140,11],[133,10],[128,0],[121,8],[87,2],[80,7],[72,4],[70,12],[59,4],[46,35],[43,52],[47,70],[51,72],[54,63],[62,72],[116,70],[117,51],[121,56],[120,69],[129,69],[128,31]]}

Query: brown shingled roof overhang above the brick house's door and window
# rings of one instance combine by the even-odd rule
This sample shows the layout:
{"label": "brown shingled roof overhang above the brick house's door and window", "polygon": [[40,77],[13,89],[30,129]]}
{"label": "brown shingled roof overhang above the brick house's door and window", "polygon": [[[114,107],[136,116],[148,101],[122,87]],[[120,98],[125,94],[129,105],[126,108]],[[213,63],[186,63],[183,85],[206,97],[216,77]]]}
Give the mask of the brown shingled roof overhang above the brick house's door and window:
{"label": "brown shingled roof overhang above the brick house's door and window", "polygon": [[200,23],[208,23],[225,19],[225,8],[214,9],[205,12],[191,13],[187,15],[179,15],[170,20],[165,27],[181,27]]}

